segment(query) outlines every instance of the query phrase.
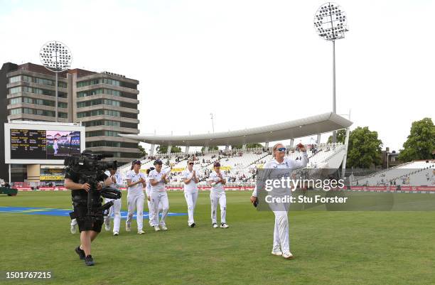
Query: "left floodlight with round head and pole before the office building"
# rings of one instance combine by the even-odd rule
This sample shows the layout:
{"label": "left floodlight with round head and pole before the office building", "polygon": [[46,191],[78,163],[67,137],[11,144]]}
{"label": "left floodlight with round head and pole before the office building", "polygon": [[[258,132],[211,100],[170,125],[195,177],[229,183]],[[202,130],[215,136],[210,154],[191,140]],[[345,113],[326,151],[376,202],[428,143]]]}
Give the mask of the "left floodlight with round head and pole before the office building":
{"label": "left floodlight with round head and pole before the office building", "polygon": [[55,122],[58,122],[58,73],[68,70],[71,66],[71,52],[68,46],[60,41],[49,41],[39,51],[42,65],[55,72]]}

